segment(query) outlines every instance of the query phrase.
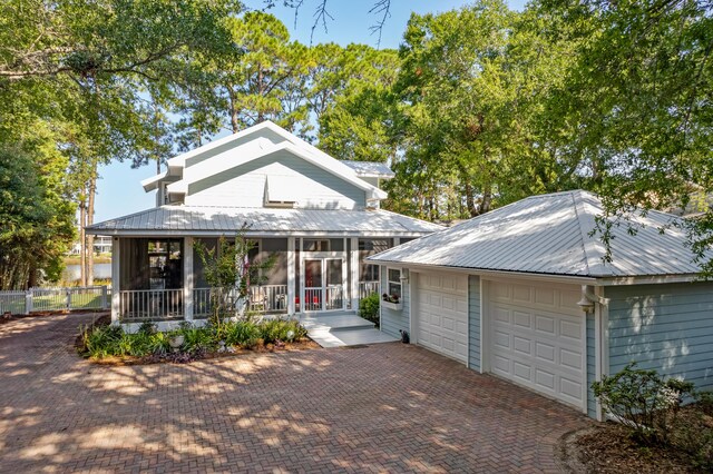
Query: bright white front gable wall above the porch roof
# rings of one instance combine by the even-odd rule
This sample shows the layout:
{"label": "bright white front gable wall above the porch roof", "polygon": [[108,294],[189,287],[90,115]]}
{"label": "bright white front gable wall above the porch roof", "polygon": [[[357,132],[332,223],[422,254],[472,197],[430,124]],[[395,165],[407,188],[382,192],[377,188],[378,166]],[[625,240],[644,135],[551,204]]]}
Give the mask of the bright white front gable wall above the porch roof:
{"label": "bright white front gable wall above the porch roof", "polygon": [[196,181],[191,168],[185,174],[186,205],[263,207],[266,176],[289,180],[296,208],[361,209],[367,205],[364,190],[284,150]]}

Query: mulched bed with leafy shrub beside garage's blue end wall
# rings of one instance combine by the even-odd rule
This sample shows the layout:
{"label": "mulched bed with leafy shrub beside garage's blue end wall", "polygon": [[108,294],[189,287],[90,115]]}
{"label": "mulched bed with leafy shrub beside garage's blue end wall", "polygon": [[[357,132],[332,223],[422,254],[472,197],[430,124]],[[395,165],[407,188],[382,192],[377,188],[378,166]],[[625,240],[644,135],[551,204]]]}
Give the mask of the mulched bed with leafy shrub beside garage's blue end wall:
{"label": "mulched bed with leafy shrub beside garage's blue end wall", "polygon": [[713,472],[712,392],[636,364],[592,387],[603,412],[621,423],[600,423],[566,436],[560,454],[570,472]]}

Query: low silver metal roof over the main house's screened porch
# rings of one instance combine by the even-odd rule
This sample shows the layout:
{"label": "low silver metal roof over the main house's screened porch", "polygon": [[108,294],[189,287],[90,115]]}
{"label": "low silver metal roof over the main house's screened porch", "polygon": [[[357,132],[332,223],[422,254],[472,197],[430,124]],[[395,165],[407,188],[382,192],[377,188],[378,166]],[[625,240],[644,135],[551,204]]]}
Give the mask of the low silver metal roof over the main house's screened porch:
{"label": "low silver metal roof over the main house's screened porch", "polygon": [[87,227],[101,235],[219,235],[243,225],[252,235],[422,236],[443,227],[388,210],[163,206]]}

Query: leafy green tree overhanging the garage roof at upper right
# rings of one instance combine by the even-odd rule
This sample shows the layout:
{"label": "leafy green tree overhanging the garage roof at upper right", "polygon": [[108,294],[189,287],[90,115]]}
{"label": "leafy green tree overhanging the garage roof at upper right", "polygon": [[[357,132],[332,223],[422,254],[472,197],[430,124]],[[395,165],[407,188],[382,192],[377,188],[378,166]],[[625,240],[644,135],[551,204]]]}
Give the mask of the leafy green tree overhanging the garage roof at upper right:
{"label": "leafy green tree overhanging the garage roof at upper right", "polygon": [[[566,152],[588,164],[607,213],[625,219],[632,206],[666,208],[712,192],[713,3],[543,0],[533,8],[563,18],[560,34],[579,45],[556,125],[575,126]],[[713,245],[713,211],[704,210],[691,227],[701,257]]]}

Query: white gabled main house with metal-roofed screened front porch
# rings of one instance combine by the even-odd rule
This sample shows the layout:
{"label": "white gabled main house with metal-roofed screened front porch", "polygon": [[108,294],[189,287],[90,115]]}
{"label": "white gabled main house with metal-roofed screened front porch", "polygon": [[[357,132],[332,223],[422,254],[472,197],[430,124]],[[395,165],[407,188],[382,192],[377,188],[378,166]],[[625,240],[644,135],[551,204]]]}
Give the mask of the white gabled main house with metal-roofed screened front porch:
{"label": "white gabled main house with metal-roofed screened front porch", "polygon": [[380,209],[381,164],[339,161],[272,122],[168,160],[143,182],[156,207],[87,227],[113,240],[114,322],[202,319],[209,292],[194,241],[215,246],[244,225],[276,255],[253,303],[271,313],[354,310],[378,289],[375,251],[442,229]]}

